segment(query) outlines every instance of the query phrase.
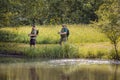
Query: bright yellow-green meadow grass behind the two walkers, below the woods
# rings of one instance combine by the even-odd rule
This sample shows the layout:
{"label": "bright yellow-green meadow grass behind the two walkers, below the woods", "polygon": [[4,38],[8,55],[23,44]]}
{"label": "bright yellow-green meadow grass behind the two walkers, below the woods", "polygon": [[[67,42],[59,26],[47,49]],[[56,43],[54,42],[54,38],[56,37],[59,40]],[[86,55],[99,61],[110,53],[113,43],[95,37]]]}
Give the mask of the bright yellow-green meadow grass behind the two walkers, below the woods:
{"label": "bright yellow-green meadow grass behind the two walkers, below the woods", "polygon": [[[98,32],[96,29],[88,25],[67,25],[70,30],[69,42],[70,43],[95,43],[106,42],[108,39],[104,34]],[[56,44],[59,42],[60,35],[58,31],[61,25],[44,25],[37,26],[39,35],[37,36],[37,43],[39,44]],[[7,27],[0,29],[0,41],[11,41],[19,43],[28,43],[31,32],[30,26],[24,27]]]}

